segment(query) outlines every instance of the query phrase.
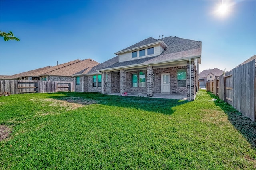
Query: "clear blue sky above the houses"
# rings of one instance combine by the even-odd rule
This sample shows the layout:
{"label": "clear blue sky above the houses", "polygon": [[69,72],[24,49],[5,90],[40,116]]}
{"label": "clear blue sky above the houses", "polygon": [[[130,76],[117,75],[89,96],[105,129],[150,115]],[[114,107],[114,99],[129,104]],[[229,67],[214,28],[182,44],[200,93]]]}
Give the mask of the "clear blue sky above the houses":
{"label": "clear blue sky above the houses", "polygon": [[76,59],[102,63],[134,43],[159,35],[202,41],[199,71],[231,70],[256,55],[256,1],[0,1],[0,75]]}

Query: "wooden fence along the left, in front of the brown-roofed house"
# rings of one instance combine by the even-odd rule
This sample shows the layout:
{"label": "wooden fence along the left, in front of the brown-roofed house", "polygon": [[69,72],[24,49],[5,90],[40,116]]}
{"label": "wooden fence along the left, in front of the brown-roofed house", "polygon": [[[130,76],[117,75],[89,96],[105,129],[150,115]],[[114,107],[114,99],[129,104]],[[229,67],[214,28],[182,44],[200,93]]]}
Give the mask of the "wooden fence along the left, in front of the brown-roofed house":
{"label": "wooden fence along the left, in front of the brown-roofed house", "polygon": [[34,80],[0,80],[0,92],[21,93],[53,93],[74,92],[75,82],[34,81]]}

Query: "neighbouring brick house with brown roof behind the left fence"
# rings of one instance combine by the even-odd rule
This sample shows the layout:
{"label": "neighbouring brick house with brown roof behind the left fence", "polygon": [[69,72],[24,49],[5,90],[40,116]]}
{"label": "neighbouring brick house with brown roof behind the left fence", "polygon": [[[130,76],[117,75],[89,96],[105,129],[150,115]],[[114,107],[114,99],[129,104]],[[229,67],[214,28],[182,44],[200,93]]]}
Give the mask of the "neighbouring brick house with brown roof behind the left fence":
{"label": "neighbouring brick house with brown roof behind the left fence", "polygon": [[86,74],[92,67],[100,63],[92,59],[74,60],[57,66],[47,66],[36,70],[22,72],[12,76],[5,76],[3,79],[11,80],[43,80],[43,81],[75,81],[77,88],[80,88],[80,76]]}

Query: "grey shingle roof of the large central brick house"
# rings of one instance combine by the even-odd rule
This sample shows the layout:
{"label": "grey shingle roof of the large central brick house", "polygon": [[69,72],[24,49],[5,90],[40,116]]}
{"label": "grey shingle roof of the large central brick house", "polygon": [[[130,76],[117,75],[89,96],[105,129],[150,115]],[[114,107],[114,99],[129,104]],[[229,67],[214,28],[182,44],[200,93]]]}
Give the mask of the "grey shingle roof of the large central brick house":
{"label": "grey shingle roof of the large central brick house", "polygon": [[[99,64],[97,67],[98,68],[102,67],[102,68],[98,70],[101,71],[101,70],[106,70],[110,68],[120,68],[120,67],[137,66],[137,65],[140,66],[140,65],[147,65],[147,64],[185,60],[191,57],[197,57],[197,58],[201,57],[201,41],[194,41],[194,40],[183,39],[178,37],[165,37],[164,39],[160,39],[160,40],[163,41],[164,44],[168,46],[168,48],[165,49],[161,55],[154,56],[154,57],[146,57],[146,58],[136,59],[131,61],[124,61],[124,62],[117,61],[109,66],[102,66],[102,64]],[[150,44],[150,43],[158,42],[160,40],[150,37],[130,47],[127,47],[126,49],[123,49],[117,53],[120,53],[127,49],[140,47],[142,45],[146,45],[147,43]]]}

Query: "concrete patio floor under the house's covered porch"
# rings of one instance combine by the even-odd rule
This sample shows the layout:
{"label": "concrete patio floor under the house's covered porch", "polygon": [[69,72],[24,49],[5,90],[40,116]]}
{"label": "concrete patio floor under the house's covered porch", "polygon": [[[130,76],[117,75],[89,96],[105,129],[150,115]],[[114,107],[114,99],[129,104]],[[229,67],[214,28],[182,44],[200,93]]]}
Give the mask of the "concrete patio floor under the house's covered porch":
{"label": "concrete patio floor under the house's covered porch", "polygon": [[[106,93],[106,94],[121,96],[120,93]],[[148,97],[147,93],[127,93],[127,96]],[[164,93],[154,93],[154,96],[148,97],[148,98],[180,99],[180,100],[188,99],[186,94],[164,94]]]}

